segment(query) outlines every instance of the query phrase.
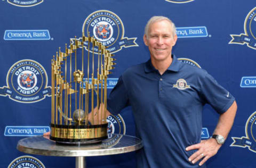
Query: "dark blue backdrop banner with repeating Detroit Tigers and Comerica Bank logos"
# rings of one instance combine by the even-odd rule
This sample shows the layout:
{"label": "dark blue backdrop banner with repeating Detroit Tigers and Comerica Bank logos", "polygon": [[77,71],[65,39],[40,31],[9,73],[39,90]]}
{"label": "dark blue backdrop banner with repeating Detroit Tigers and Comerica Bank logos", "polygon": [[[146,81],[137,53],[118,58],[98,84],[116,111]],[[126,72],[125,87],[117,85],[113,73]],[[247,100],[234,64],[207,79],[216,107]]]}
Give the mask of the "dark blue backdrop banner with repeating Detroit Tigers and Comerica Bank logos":
{"label": "dark blue backdrop banner with repeating Detroit Tigers and Comerica Bank logos", "polygon": [[[255,166],[255,0],[2,0],[0,13],[0,167],[74,167],[74,157],[30,155],[16,149],[18,140],[50,131],[53,55],[82,31],[93,35],[99,29],[100,36],[94,37],[117,59],[107,83],[110,93],[125,69],[148,60],[142,37],[153,15],[175,23],[178,41],[173,53],[180,61],[205,69],[236,98],[234,126],[207,167]],[[209,105],[203,114],[206,139],[219,115]],[[108,132],[135,135],[130,107],[107,120]],[[86,161],[87,167],[135,167],[136,159],[132,152]]]}

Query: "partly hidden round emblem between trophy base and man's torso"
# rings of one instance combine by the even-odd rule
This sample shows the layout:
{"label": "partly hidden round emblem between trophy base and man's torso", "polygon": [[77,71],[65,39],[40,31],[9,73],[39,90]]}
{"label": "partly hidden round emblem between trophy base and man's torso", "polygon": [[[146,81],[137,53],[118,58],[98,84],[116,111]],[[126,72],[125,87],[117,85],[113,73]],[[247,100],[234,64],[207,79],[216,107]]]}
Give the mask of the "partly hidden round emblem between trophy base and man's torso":
{"label": "partly hidden round emblem between trophy base and man's torso", "polygon": [[109,115],[107,117],[108,122],[108,138],[111,138],[111,133],[125,135],[125,123],[123,117],[118,115]]}

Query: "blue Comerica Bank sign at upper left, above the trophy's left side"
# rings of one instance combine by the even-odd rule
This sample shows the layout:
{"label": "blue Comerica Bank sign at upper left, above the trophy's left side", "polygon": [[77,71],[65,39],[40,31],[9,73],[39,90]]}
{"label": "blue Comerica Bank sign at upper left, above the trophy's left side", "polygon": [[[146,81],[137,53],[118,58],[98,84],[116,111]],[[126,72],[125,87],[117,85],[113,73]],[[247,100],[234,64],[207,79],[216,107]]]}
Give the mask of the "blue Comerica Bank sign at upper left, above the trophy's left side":
{"label": "blue Comerica Bank sign at upper left, above the trophy's left side", "polygon": [[50,40],[48,30],[5,30],[4,40]]}

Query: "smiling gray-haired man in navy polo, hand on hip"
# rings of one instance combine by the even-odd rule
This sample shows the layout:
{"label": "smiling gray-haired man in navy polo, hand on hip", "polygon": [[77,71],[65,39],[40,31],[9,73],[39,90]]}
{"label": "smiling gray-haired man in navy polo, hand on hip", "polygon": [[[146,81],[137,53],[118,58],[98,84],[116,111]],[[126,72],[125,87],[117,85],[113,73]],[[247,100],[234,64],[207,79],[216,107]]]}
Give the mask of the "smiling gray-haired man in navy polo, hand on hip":
{"label": "smiling gray-haired man in navy polo, hand on hip", "polygon": [[[137,152],[137,167],[206,167],[233,125],[235,98],[205,70],[172,55],[177,35],[168,18],[151,18],[143,40],[150,60],[122,74],[109,95],[107,110],[118,114],[132,106],[137,136],[144,145]],[[213,138],[201,140],[206,103],[220,117]]]}

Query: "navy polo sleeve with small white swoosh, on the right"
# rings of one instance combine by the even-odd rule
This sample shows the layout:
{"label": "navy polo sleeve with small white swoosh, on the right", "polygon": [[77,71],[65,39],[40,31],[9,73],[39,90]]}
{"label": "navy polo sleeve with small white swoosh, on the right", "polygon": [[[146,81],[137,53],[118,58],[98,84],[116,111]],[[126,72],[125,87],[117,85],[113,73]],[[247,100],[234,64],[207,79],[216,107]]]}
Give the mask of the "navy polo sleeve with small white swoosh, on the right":
{"label": "navy polo sleeve with small white swoosh, on the right", "polygon": [[233,104],[235,98],[209,74],[199,81],[201,94],[206,103],[210,104],[219,114],[224,113]]}

